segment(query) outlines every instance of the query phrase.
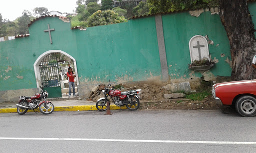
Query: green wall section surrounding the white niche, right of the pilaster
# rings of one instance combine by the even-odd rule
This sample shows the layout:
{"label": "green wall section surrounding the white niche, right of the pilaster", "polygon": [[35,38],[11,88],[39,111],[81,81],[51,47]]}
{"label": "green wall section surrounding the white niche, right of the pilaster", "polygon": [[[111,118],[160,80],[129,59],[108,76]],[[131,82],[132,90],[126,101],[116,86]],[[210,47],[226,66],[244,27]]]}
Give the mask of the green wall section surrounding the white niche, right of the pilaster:
{"label": "green wall section surrounding the white niche, right of the pilaster", "polygon": [[[198,17],[188,12],[166,14],[162,16],[162,23],[171,79],[202,76],[200,72],[188,69],[191,63],[188,43],[194,35],[207,35],[214,42],[213,45],[208,44],[209,55],[218,62],[210,69],[211,73],[215,76],[230,76],[231,68],[225,61],[226,58],[231,60],[229,41],[218,14],[211,15],[210,11],[204,11]],[[221,54],[225,56],[221,57]]]}

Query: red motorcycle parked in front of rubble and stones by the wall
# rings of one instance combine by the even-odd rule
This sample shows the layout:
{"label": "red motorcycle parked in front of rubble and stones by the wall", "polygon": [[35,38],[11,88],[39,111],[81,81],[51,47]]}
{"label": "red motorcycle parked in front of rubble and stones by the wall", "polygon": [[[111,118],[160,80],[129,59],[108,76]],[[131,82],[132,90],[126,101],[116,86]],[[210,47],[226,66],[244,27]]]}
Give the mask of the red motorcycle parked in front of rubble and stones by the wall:
{"label": "red motorcycle parked in front of rubble and stones by the wall", "polygon": [[96,102],[97,110],[105,111],[106,104],[109,102],[108,99],[111,99],[116,106],[120,107],[120,109],[122,106],[126,106],[127,109],[131,111],[135,111],[139,108],[138,94],[140,94],[139,91],[141,91],[141,89],[121,92],[119,90],[114,90],[114,87],[109,89],[110,86],[110,80],[108,80],[107,87],[102,90],[105,96],[98,99]]}

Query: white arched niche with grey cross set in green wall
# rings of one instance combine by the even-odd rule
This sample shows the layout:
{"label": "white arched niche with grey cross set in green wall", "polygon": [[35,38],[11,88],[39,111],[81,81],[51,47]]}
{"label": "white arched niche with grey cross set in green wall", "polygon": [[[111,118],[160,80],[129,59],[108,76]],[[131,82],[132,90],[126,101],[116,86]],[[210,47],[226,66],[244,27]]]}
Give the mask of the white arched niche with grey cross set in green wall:
{"label": "white arched niche with grey cross set in green wall", "polygon": [[209,60],[208,41],[204,36],[195,35],[189,40],[191,63],[194,60]]}

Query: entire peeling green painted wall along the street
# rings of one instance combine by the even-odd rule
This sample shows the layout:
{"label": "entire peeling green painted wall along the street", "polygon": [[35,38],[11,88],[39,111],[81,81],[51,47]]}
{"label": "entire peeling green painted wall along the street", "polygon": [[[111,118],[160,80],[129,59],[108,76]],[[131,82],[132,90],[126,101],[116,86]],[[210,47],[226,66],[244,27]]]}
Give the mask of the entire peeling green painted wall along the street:
{"label": "entire peeling green painted wall along the street", "polygon": [[[256,7],[249,3],[253,23]],[[51,31],[50,44],[47,24]],[[198,17],[188,12],[162,15],[169,78],[192,79],[201,72],[188,69],[188,42],[194,35],[208,36],[211,59],[216,61],[210,72],[215,76],[230,76],[229,42],[218,14],[202,12]],[[28,37],[0,42],[0,91],[34,89],[33,64],[48,50],[61,50],[76,60],[79,84],[111,81],[160,80],[161,66],[155,17],[130,19],[125,23],[70,29],[70,22],[58,17],[38,19],[29,26]]]}

